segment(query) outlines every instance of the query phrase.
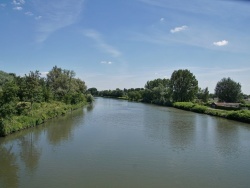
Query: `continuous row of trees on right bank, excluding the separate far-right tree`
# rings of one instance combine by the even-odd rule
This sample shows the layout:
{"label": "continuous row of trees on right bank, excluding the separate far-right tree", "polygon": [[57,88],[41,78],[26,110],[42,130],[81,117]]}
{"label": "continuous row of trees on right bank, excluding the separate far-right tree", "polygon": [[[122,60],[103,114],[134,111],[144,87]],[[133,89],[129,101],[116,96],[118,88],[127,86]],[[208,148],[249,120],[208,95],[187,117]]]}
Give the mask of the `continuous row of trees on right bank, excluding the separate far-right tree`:
{"label": "continuous row of trees on right bank, excluding the separate far-right tree", "polygon": [[88,91],[96,96],[124,98],[158,105],[193,101],[197,97],[206,102],[209,98],[208,88],[199,89],[198,81],[189,70],[174,71],[170,79],[158,78],[147,81],[144,88],[104,91],[90,88]]}

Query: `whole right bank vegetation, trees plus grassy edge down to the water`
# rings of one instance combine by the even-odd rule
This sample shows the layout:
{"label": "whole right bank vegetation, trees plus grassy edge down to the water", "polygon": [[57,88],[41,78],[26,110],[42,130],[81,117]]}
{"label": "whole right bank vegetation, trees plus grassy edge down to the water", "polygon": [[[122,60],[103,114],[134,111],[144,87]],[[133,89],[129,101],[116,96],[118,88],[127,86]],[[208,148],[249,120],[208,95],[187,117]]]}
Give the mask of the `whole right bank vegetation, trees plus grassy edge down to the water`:
{"label": "whole right bank vegetation, trees plus grassy edge down to the water", "polygon": [[95,96],[171,106],[250,123],[250,96],[243,94],[240,83],[231,78],[218,81],[214,94],[207,87],[199,88],[195,76],[182,69],[174,71],[170,79],[148,81],[144,88],[103,91],[89,88],[88,91]]}

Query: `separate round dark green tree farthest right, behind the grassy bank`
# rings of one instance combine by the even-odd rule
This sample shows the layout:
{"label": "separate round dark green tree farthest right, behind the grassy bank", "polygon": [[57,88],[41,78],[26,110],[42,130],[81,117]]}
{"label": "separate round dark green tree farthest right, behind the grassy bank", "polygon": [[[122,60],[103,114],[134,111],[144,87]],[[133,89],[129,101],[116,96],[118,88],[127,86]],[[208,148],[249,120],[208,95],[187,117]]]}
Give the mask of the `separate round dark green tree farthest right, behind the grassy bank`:
{"label": "separate round dark green tree farthest right, behind the grassy bank", "polygon": [[241,85],[231,78],[222,78],[215,87],[215,95],[219,101],[238,102],[241,99]]}

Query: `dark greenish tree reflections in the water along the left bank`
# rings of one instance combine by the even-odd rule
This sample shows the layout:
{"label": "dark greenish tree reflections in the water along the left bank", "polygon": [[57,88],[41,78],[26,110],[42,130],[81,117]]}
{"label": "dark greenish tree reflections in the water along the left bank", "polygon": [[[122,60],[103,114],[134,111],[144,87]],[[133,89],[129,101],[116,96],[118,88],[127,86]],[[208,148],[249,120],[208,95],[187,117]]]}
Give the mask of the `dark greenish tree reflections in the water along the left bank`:
{"label": "dark greenish tree reflections in the water along the left bank", "polygon": [[78,121],[83,115],[83,110],[79,109],[43,125],[0,138],[0,187],[19,187],[22,166],[26,169],[26,176],[32,176],[42,155],[42,136],[47,135],[53,145],[72,139],[72,131],[79,125]]}

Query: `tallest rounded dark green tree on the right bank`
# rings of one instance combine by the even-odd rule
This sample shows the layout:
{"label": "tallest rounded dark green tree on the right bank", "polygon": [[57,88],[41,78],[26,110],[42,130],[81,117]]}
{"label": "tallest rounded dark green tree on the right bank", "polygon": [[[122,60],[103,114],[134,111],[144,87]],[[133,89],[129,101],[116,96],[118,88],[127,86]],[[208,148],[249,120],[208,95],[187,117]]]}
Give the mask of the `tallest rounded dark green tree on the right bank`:
{"label": "tallest rounded dark green tree on the right bank", "polygon": [[198,81],[189,70],[180,69],[172,73],[170,89],[174,102],[192,101],[198,92]]}

